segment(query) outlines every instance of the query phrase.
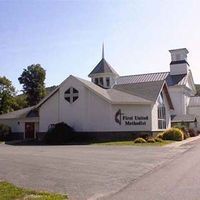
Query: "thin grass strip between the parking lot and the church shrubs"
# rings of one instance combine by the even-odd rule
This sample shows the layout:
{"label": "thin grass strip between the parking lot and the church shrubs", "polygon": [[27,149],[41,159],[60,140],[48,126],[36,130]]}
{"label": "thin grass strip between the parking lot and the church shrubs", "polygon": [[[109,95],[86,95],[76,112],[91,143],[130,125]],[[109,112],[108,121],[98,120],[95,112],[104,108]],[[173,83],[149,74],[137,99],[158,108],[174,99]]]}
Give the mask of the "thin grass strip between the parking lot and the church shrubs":
{"label": "thin grass strip between the parking lot and the church shrubs", "polygon": [[96,145],[113,145],[113,146],[164,146],[172,143],[173,141],[164,140],[163,142],[155,143],[134,143],[133,141],[115,141],[115,142],[103,142],[96,143]]}

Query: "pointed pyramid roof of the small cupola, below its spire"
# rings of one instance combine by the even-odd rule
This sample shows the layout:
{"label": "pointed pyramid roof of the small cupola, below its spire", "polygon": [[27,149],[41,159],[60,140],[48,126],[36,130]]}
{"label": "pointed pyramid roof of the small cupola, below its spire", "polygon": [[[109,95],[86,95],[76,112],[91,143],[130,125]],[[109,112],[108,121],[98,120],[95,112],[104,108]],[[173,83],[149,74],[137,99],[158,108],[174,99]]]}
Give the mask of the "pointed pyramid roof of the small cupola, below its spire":
{"label": "pointed pyramid roof of the small cupola, below its spire", "polygon": [[118,75],[118,73],[111,67],[111,65],[104,58],[101,59],[101,61],[90,72],[88,76],[91,77],[92,75],[99,73],[111,73]]}

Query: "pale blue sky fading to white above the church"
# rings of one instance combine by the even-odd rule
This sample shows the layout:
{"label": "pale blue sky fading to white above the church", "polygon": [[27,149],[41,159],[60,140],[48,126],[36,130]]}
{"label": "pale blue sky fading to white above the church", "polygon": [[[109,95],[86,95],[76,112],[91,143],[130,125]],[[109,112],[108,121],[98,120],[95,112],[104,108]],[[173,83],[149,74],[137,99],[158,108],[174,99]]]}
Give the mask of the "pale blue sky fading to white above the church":
{"label": "pale blue sky fading to white above the church", "polygon": [[187,48],[200,83],[199,0],[0,0],[0,76],[18,91],[31,64],[46,86],[69,75],[88,79],[105,58],[120,74],[169,71],[168,50]]}

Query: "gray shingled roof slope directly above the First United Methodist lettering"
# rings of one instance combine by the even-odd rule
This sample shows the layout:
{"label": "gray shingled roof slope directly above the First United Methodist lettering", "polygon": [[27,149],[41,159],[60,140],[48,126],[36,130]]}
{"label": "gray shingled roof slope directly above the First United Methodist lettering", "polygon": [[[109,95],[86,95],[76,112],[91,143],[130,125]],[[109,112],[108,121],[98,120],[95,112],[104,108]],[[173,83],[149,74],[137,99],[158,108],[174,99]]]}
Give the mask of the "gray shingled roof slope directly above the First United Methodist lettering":
{"label": "gray shingled roof slope directly above the First United Methodist lettering", "polygon": [[121,84],[114,85],[114,89],[155,102],[163,87],[164,82],[164,80],[161,80],[152,82]]}

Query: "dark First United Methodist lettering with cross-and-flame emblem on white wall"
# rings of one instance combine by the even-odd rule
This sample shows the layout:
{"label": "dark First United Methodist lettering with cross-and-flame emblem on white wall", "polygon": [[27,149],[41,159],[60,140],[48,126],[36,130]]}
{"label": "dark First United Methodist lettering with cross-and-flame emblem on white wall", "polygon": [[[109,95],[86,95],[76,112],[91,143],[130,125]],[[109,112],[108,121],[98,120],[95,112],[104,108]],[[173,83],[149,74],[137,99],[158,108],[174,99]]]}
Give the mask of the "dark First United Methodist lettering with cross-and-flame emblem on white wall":
{"label": "dark First United Methodist lettering with cross-and-flame emblem on white wall", "polygon": [[119,125],[146,126],[148,120],[149,117],[146,115],[126,115],[125,113],[122,113],[121,109],[115,113],[115,122]]}

